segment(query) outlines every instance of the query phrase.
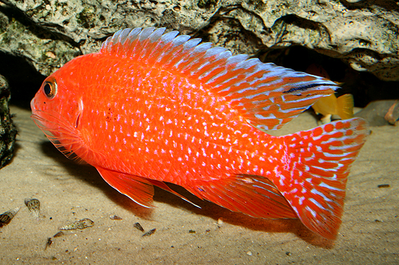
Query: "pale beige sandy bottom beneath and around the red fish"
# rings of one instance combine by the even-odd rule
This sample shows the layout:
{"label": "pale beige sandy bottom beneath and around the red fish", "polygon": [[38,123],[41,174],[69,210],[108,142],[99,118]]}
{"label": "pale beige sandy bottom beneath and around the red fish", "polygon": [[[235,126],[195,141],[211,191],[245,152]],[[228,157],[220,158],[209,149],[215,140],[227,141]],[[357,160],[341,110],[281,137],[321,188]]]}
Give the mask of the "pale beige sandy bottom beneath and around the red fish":
{"label": "pale beige sandy bottom beneath and around the red fish", "polygon": [[[11,111],[18,147],[13,162],[0,170],[0,213],[21,210],[0,228],[0,264],[399,264],[399,127],[371,128],[349,175],[340,234],[329,242],[299,220],[250,218],[179,187],[173,189],[202,208],[161,189],[155,191],[156,208],[138,206],[93,167],[59,153],[28,110]],[[316,120],[304,113],[280,134],[313,126]],[[25,198],[40,200],[38,220]],[[123,219],[111,220],[113,214]],[[93,220],[93,227],[65,231],[45,249],[60,226],[81,218]],[[137,222],[156,232],[142,237]]]}

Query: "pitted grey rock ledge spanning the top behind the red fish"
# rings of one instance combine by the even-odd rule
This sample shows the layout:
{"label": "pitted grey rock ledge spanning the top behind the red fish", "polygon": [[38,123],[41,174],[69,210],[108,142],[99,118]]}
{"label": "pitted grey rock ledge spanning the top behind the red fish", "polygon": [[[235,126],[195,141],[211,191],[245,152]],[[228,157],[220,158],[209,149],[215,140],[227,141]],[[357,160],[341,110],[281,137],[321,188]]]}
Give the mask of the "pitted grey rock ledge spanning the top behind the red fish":
{"label": "pitted grey rock ledge spanning the top behind the red fish", "polygon": [[162,26],[234,52],[301,45],[399,81],[397,1],[0,0],[0,51],[44,75],[127,27]]}

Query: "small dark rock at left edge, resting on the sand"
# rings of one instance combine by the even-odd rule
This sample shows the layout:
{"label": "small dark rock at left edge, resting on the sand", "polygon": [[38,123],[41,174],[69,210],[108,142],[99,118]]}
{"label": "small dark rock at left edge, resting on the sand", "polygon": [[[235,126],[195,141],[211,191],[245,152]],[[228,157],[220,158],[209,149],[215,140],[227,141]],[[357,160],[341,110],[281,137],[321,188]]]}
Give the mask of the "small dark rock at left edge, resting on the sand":
{"label": "small dark rock at left edge, resting on the sand", "polygon": [[8,83],[3,76],[0,76],[0,168],[7,165],[13,158],[14,143],[16,142],[16,126],[14,126],[8,101],[11,93]]}

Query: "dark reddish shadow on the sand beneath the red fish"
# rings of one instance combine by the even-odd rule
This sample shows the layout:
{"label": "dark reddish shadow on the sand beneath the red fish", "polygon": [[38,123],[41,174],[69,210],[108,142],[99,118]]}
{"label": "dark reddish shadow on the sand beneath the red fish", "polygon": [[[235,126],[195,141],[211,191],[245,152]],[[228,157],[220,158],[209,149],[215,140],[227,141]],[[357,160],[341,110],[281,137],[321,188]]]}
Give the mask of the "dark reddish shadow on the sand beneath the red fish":
{"label": "dark reddish shadow on the sand beneath the red fish", "polygon": [[[117,192],[117,190],[110,187],[110,185],[103,180],[95,167],[87,164],[79,164],[76,163],[74,160],[69,160],[61,152],[59,152],[57,148],[55,148],[52,143],[50,143],[50,141],[42,142],[41,147],[45,155],[56,160],[57,163],[62,165],[69,172],[70,175],[82,179],[93,187],[101,189],[111,201],[121,206],[122,208],[131,211],[139,218],[151,220],[151,213],[152,211],[156,211],[156,208],[144,208],[143,206],[134,203],[134,201],[129,199],[127,196]],[[301,240],[305,240],[312,245],[327,249],[333,247],[334,241],[326,240],[323,237],[314,234],[313,232],[308,230],[308,228],[302,225],[299,219],[271,220],[252,218],[242,213],[234,213],[226,208],[217,206],[212,202],[202,201],[201,199],[190,194],[190,192],[187,192],[187,190],[178,185],[168,183],[168,186],[171,189],[175,190],[175,192],[182,194],[201,208],[192,206],[192,204],[183,201],[182,199],[178,198],[178,196],[170,194],[169,192],[166,192],[163,189],[159,189],[158,187],[155,187],[154,201],[159,201],[175,208],[183,208],[185,211],[191,211],[197,215],[212,218],[215,220],[215,222],[219,218],[223,218],[225,223],[238,225],[244,228],[248,228],[250,230],[263,232],[292,232],[300,237]]]}

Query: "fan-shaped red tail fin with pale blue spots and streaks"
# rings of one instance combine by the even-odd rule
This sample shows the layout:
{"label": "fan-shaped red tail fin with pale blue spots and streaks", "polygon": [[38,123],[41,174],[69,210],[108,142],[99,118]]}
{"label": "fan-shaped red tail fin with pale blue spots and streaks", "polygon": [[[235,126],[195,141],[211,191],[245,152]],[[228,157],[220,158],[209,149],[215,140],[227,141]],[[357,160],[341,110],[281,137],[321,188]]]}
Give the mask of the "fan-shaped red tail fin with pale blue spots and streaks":
{"label": "fan-shaped red tail fin with pale blue spots and streaks", "polygon": [[349,167],[369,129],[361,118],[282,136],[284,170],[276,186],[307,228],[328,239],[341,224]]}

